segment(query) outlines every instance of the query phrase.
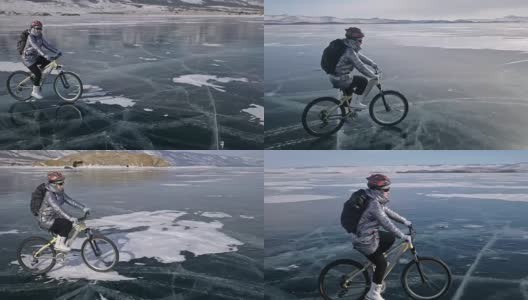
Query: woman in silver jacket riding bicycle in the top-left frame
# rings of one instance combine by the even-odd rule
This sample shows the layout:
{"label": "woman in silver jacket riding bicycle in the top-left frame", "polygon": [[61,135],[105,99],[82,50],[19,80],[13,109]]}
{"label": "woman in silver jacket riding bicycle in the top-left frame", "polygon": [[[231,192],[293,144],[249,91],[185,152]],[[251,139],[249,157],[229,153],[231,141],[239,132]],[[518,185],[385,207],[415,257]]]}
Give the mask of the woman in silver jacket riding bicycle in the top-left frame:
{"label": "woman in silver jacket riding bicycle in the top-left frame", "polygon": [[40,80],[42,70],[50,63],[51,57],[44,50],[47,49],[53,54],[60,56],[62,53],[46,41],[42,35],[42,22],[33,21],[26,41],[26,46],[22,52],[22,62],[35,75],[33,77],[33,92],[31,96],[42,99],[40,93]]}

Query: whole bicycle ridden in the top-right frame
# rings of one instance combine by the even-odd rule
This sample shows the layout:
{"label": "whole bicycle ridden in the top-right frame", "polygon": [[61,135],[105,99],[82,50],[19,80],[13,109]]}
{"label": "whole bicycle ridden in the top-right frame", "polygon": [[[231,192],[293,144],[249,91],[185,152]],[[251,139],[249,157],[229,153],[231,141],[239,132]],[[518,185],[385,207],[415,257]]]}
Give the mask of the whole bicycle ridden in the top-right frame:
{"label": "whole bicycle ridden in the top-right frame", "polygon": [[[370,101],[370,117],[379,125],[394,126],[403,121],[407,116],[409,103],[400,92],[383,90],[381,87],[382,74],[379,71],[376,71],[375,74],[379,78],[376,83],[379,93]],[[343,127],[348,118],[356,118],[361,111],[361,109],[350,106],[352,97],[353,93],[346,95],[341,90],[339,100],[332,97],[322,97],[311,101],[302,113],[301,120],[304,129],[316,137],[325,137],[336,133]],[[319,129],[325,128],[328,131],[319,131]]]}

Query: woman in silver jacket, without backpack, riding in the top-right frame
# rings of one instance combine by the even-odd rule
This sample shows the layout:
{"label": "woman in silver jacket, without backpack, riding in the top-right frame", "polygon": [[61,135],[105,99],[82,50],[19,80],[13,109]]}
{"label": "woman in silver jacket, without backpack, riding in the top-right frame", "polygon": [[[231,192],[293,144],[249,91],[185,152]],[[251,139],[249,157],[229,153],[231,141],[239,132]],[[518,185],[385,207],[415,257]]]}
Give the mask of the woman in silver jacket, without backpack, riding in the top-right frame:
{"label": "woman in silver jacket, without backpack, riding in the top-right frame", "polygon": [[[367,95],[372,87],[377,82],[378,76],[370,71],[366,66],[369,65],[374,70],[378,70],[378,65],[365,55],[359,53],[365,35],[361,29],[357,27],[350,27],[345,29],[346,39],[344,40],[346,51],[339,59],[335,75],[330,76],[330,82],[335,88],[341,89],[346,95]],[[364,76],[354,75],[351,77],[350,73],[356,68]],[[367,79],[368,78],[368,79]],[[357,109],[365,109],[367,106],[362,104],[362,98],[355,97],[352,99],[350,106]]]}

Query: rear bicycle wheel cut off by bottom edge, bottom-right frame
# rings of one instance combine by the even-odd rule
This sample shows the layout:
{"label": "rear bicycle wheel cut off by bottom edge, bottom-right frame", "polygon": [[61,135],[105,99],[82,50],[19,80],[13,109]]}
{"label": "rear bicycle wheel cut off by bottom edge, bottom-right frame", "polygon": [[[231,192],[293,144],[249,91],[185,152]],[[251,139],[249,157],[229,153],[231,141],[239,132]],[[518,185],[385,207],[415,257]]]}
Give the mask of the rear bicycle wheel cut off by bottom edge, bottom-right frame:
{"label": "rear bicycle wheel cut off by bottom edge, bottom-right frame", "polygon": [[325,300],[363,300],[369,288],[368,271],[350,259],[331,262],[319,275],[319,293]]}

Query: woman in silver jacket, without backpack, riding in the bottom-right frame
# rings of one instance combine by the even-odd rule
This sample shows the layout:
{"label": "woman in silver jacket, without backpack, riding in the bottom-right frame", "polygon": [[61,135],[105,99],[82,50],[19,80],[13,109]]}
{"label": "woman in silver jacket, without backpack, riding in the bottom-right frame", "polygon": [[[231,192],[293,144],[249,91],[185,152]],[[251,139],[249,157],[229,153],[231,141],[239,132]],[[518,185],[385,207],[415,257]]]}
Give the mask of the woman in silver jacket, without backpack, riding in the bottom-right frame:
{"label": "woman in silver jacket, without backpack, riding in the bottom-right frame", "polygon": [[[410,227],[412,223],[387,207],[391,184],[387,176],[374,174],[369,176],[367,180],[368,189],[365,190],[365,193],[370,200],[359,218],[357,234],[351,233],[351,235],[354,248],[376,266],[372,285],[365,299],[383,300],[381,289],[387,269],[387,260],[383,253],[390,249],[396,237],[411,242],[411,236],[401,232],[390,219],[407,227]],[[380,226],[388,232],[379,231]]]}

